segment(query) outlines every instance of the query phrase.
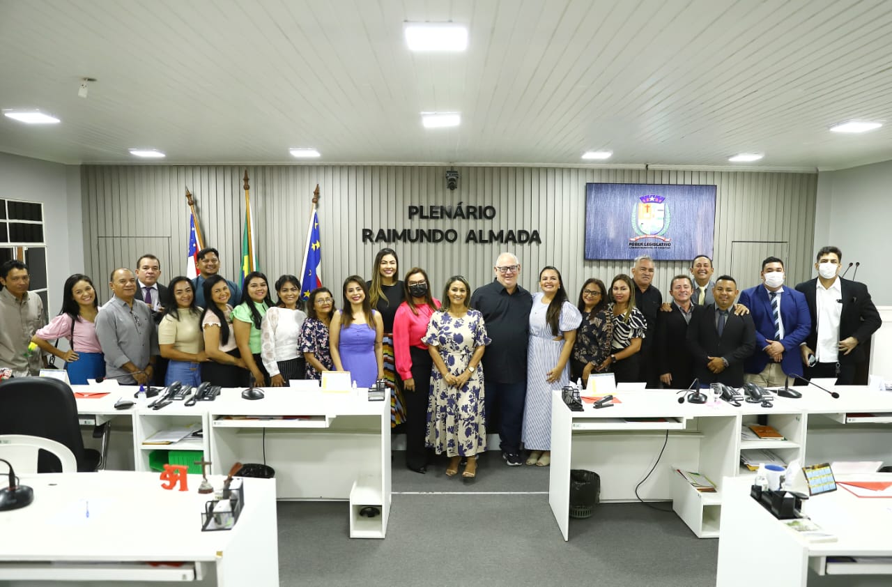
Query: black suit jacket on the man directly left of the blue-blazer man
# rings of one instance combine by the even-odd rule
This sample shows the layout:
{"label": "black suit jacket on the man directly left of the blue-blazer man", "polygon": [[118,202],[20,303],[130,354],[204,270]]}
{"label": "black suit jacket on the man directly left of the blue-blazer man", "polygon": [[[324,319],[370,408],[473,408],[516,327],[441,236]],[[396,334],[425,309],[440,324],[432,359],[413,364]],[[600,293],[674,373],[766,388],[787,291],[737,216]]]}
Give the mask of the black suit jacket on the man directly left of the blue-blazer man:
{"label": "black suit jacket on the man directly left of the blue-blazer man", "polygon": [[[756,325],[749,314],[735,316],[733,308],[725,322],[722,338],[715,329],[715,306],[697,306],[688,326],[688,350],[694,361],[694,376],[700,384],[723,383],[743,385],[743,360],[756,349]],[[728,361],[721,373],[706,367],[707,357],[723,357]]]}

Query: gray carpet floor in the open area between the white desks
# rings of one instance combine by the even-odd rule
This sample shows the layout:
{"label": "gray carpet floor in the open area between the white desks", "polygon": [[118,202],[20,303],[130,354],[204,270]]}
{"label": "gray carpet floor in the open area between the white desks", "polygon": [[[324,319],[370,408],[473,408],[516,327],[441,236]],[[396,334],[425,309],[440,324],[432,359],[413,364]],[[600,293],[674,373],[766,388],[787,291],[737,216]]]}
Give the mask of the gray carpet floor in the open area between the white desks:
{"label": "gray carpet floor in the open area between the white desks", "polygon": [[[673,513],[602,504],[564,542],[548,468],[507,467],[490,452],[477,478],[418,475],[394,453],[387,538],[351,540],[343,502],[278,504],[281,585],[660,585],[715,583],[718,541]],[[669,504],[658,504],[667,507]]]}

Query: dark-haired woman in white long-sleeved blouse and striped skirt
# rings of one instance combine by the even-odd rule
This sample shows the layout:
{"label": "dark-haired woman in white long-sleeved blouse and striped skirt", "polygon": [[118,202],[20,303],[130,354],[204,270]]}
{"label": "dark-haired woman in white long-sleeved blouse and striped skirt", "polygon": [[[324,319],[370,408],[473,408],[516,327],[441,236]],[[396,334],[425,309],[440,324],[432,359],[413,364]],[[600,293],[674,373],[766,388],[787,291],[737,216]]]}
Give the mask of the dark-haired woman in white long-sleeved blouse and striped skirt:
{"label": "dark-haired woman in white long-sleeved blouse and striped skirt", "polygon": [[306,361],[300,351],[301,326],[307,315],[301,310],[301,281],[293,275],[276,282],[278,303],[260,324],[260,359],[273,387],[287,386],[290,379],[303,379]]}

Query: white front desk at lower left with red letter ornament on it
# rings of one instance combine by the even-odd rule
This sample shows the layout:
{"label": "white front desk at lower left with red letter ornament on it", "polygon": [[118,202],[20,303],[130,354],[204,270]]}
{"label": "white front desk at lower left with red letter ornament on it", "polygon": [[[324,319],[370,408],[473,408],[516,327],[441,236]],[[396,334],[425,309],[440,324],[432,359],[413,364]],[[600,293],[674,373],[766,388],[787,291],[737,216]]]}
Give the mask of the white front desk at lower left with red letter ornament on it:
{"label": "white front desk at lower left with red letter ornament on it", "polygon": [[[232,530],[202,532],[201,475],[189,491],[166,491],[158,474],[106,471],[21,475],[27,507],[0,512],[0,584],[65,581],[133,585],[194,581],[278,585],[276,484],[244,480],[244,509]],[[211,483],[222,487],[223,478]],[[87,503],[90,516],[86,516]],[[151,566],[150,562],[180,566]],[[97,583],[102,582],[102,583]]]}

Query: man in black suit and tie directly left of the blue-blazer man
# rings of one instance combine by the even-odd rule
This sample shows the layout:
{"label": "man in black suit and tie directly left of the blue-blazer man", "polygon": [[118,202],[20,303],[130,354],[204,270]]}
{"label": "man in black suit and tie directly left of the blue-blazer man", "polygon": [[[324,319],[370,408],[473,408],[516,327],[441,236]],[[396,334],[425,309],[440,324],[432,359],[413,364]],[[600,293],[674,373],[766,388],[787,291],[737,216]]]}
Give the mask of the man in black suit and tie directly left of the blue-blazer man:
{"label": "man in black suit and tie directly left of the blue-blazer man", "polygon": [[737,297],[734,277],[715,280],[715,304],[695,306],[688,325],[688,350],[700,384],[743,385],[743,361],[756,348],[756,326],[749,314],[731,311]]}

